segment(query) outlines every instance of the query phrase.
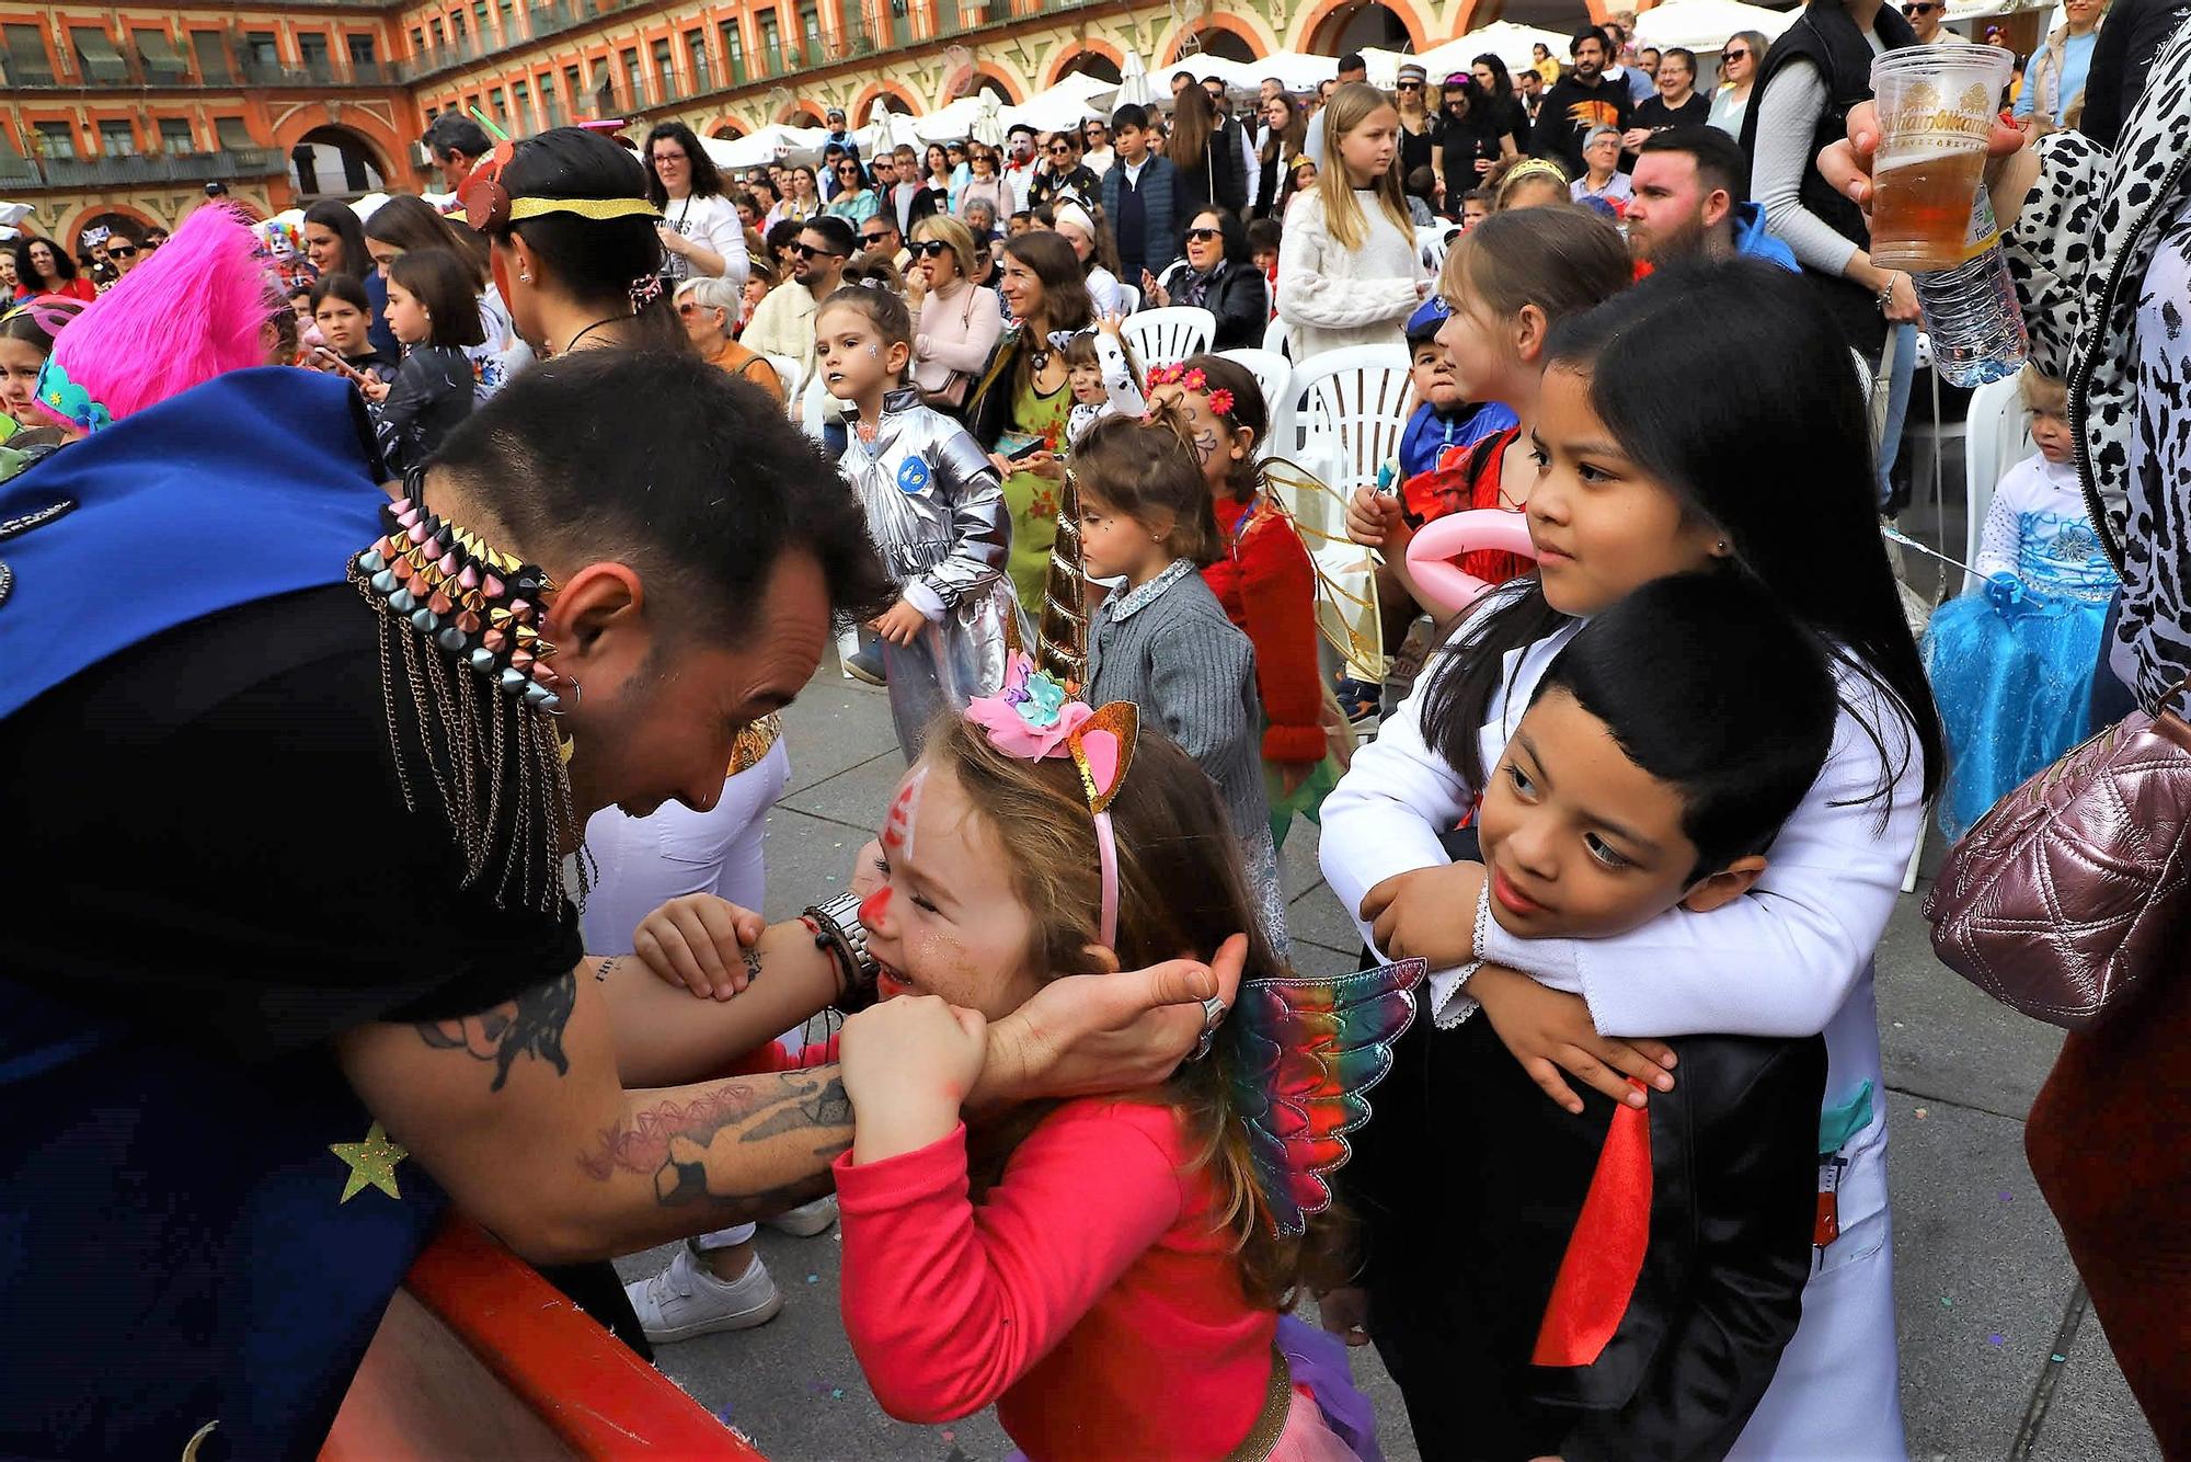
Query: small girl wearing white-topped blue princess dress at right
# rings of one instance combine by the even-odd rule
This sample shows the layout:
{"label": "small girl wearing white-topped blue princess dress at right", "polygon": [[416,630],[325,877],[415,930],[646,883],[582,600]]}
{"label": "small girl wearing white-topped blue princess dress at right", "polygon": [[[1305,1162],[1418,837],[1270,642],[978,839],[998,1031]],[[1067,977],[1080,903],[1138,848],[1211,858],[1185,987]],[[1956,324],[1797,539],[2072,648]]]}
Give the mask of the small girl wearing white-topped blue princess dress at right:
{"label": "small girl wearing white-topped blue princess dress at right", "polygon": [[2003,796],[2077,745],[2117,574],[2070,460],[2068,390],[2024,368],[2038,454],[2011,467],[1985,513],[1985,581],[1932,616],[1926,671],[1952,767],[1939,826],[1961,837]]}

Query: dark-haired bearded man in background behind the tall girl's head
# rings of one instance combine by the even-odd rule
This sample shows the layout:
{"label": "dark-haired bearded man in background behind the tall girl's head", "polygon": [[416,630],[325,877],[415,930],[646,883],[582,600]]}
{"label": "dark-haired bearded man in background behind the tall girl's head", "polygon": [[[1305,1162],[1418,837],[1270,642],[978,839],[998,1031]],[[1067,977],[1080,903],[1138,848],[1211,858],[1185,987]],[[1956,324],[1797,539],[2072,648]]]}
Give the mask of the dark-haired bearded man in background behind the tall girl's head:
{"label": "dark-haired bearded man in background behind the tall girl's head", "polygon": [[1637,153],[1628,199],[1628,252],[1637,278],[1685,254],[1742,254],[1801,270],[1794,250],[1766,232],[1751,202],[1742,145],[1718,127],[1670,127]]}

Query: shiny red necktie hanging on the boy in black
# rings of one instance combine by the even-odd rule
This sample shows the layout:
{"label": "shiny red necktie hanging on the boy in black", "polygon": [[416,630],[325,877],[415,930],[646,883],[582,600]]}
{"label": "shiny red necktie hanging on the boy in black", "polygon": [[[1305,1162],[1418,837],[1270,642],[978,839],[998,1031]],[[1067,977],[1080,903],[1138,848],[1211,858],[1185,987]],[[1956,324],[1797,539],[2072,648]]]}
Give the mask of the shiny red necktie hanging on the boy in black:
{"label": "shiny red necktie hanging on the boy in black", "polygon": [[[1630,1083],[1639,1092],[1643,1083]],[[1650,1247],[1650,1113],[1621,1103],[1560,1258],[1532,1366],[1591,1366],[1621,1328]]]}

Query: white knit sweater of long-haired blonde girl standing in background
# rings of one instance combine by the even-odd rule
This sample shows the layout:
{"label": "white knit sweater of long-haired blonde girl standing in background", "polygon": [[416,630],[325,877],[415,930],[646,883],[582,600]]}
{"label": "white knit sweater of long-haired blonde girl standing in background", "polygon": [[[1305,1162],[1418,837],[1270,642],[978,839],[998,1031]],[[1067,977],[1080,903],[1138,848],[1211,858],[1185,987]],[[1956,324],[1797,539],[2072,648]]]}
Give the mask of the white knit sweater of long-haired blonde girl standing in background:
{"label": "white knit sweater of long-haired blonde girl standing in background", "polygon": [[1404,344],[1402,327],[1422,302],[1424,278],[1415,235],[1378,208],[1376,193],[1354,193],[1369,237],[1341,248],[1323,221],[1323,197],[1308,193],[1286,213],[1277,250],[1277,318],[1295,364],[1354,344]]}

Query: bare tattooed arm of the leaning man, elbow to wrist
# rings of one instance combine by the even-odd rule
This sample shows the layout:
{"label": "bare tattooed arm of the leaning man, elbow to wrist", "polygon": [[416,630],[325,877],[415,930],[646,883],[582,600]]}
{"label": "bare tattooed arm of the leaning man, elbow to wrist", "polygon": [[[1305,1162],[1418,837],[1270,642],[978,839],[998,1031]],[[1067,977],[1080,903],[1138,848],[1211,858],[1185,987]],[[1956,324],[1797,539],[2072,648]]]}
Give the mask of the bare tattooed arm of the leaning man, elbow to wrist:
{"label": "bare tattooed arm of the leaning man, elbow to wrist", "polygon": [[629,1254],[828,1192],[828,1162],[852,1144],[835,1067],[627,1092],[616,1048],[581,967],[458,1021],[362,1026],[337,1054],[456,1206],[535,1263]]}

